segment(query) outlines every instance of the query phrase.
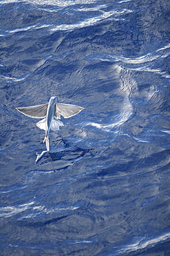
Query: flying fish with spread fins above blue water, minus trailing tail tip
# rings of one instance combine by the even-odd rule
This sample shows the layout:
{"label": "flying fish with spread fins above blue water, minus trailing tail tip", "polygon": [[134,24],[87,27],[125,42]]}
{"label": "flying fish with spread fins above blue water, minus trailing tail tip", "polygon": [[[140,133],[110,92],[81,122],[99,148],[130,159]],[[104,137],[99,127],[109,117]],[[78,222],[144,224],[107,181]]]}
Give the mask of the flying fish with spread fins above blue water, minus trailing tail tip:
{"label": "flying fish with spread fins above blue water, minus trailing tail tip", "polygon": [[70,118],[76,115],[83,107],[79,107],[72,104],[59,103],[57,97],[51,97],[50,101],[46,104],[31,106],[31,107],[19,107],[17,110],[23,113],[25,116],[32,118],[43,118],[36,123],[36,125],[45,130],[44,142],[46,144],[47,151],[50,151],[49,133],[50,129],[53,131],[59,130],[59,127],[63,126],[61,122],[61,116],[64,118]]}

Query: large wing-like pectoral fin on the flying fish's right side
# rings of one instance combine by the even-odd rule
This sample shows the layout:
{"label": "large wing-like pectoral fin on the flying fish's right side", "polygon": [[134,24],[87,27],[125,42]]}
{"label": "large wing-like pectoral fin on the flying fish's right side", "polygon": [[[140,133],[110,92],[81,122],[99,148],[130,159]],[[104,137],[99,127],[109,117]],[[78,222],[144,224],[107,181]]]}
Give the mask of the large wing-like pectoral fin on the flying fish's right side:
{"label": "large wing-like pectoral fin on the flying fish's right side", "polygon": [[83,109],[83,107],[78,107],[72,104],[56,103],[54,116],[56,118],[61,118],[61,116],[63,116],[64,118],[70,118],[71,116],[76,115]]}

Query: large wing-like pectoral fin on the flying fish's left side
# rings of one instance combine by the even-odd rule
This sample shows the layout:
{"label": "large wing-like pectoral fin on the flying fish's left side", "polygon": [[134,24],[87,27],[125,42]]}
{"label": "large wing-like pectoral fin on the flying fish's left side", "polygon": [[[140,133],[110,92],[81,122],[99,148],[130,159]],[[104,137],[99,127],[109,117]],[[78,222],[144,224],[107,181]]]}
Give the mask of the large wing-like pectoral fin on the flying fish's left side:
{"label": "large wing-like pectoral fin on the flying fish's left side", "polygon": [[47,105],[48,103],[31,107],[18,107],[17,110],[31,118],[45,118],[47,114]]}

